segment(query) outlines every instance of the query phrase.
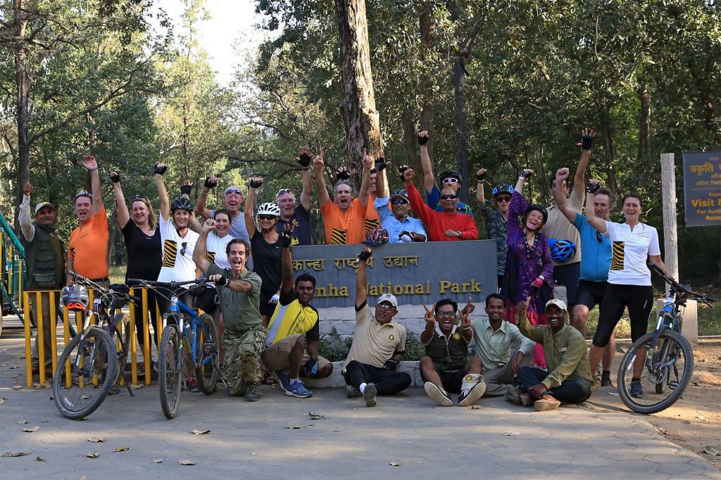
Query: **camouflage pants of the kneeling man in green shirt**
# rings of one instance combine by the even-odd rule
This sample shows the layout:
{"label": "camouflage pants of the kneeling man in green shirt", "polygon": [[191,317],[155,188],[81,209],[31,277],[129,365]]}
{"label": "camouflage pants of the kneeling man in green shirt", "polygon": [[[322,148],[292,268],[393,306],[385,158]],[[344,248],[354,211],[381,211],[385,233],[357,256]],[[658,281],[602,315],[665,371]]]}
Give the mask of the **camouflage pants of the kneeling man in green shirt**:
{"label": "camouflage pants of the kneeling man in green shirt", "polygon": [[245,332],[223,334],[226,352],[223,375],[232,395],[244,395],[249,383],[260,382],[260,353],[265,347],[267,332],[262,324]]}

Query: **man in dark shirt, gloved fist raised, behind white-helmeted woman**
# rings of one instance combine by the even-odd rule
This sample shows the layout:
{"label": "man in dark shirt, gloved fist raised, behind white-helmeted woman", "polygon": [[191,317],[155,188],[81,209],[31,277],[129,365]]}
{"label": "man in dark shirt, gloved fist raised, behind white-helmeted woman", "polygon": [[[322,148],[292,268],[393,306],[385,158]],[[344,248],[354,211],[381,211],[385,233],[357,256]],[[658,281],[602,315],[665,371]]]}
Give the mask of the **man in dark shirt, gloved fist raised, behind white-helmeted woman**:
{"label": "man in dark shirt, gloved fist raised, behind white-helmeted woman", "polygon": [[311,151],[301,148],[296,161],[301,165],[303,190],[300,203],[296,204],[296,195],[289,188],[281,188],[275,195],[275,204],[280,208],[280,218],[275,223],[275,231],[282,235],[286,225],[292,225],[293,245],[311,245]]}

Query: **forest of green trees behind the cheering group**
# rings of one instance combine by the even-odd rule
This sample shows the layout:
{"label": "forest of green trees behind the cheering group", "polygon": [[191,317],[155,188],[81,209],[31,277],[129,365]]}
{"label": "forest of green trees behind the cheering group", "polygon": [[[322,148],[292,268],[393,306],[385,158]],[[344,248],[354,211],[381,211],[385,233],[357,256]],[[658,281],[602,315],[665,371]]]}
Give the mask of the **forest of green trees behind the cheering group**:
{"label": "forest of green trees behind the cheering group", "polygon": [[0,213],[11,224],[30,179],[33,205],[58,205],[68,238],[92,153],[119,265],[112,169],[126,197],[154,205],[157,161],[169,185],[192,179],[193,197],[211,174],[221,185],[264,174],[258,201],[272,201],[280,187],[300,191],[306,145],[322,146],[331,178],[347,165],[357,180],[364,144],[420,172],[419,129],[435,172],[464,175],[471,205],[481,167],[490,184],[534,169],[524,193],[549,203],[549,175],[575,169],[588,127],[587,177],[640,192],[662,235],[659,156],[676,154],[681,279],[721,280],[721,228],[685,227],[681,172],[682,152],[721,150],[717,1],[255,0],[263,38],[238,48],[231,82],[198,45],[203,1],[182,3],[174,25],[162,1],[0,0]]}

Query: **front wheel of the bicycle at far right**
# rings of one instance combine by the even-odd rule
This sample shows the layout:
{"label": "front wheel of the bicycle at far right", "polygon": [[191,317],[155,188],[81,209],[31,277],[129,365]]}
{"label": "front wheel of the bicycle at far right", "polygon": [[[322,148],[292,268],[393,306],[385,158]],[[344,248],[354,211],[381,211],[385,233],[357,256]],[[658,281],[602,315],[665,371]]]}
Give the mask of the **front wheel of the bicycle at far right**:
{"label": "front wheel of the bicycle at far right", "polygon": [[[653,414],[667,409],[681,398],[694,371],[694,352],[688,340],[666,330],[656,348],[650,350],[655,332],[645,334],[632,345],[621,360],[619,396],[634,412]],[[641,390],[632,395],[633,364],[637,355],[650,355],[640,375]]]}

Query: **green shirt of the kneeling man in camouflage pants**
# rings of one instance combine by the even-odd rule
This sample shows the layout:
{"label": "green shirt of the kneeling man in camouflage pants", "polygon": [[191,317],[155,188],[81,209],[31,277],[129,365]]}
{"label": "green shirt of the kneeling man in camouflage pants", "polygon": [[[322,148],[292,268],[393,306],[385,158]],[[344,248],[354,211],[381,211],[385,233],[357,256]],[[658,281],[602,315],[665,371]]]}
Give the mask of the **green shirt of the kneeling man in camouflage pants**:
{"label": "green shirt of the kneeling man in camouflage pants", "polygon": [[[227,280],[233,280],[233,272],[227,268],[218,267],[211,263],[208,265],[206,277],[223,275]],[[233,332],[245,332],[262,323],[260,316],[260,277],[248,269],[243,270],[237,280],[245,280],[253,285],[248,293],[234,292],[227,285],[218,285],[218,298],[221,300],[221,311],[226,329]]]}

